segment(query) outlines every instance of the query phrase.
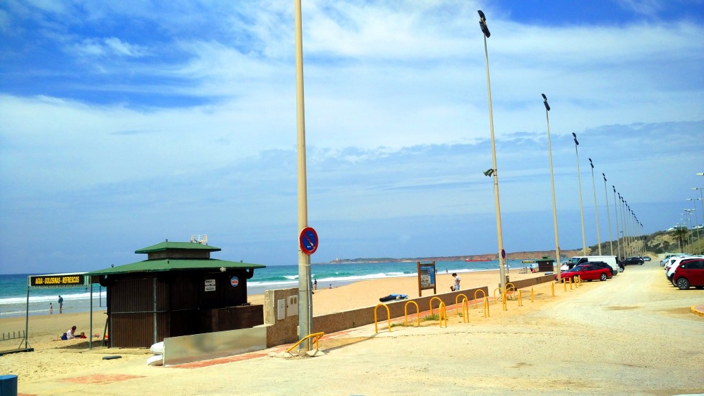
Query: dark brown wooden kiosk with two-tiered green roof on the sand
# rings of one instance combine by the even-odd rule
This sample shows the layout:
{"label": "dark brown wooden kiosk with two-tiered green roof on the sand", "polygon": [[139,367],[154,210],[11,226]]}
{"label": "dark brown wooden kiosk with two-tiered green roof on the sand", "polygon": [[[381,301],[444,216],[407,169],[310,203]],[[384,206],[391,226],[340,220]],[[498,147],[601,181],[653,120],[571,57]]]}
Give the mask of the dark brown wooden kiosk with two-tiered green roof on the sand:
{"label": "dark brown wooden kiosk with two-tiered green roof on the sand", "polygon": [[251,328],[263,306],[247,302],[247,280],[261,264],[211,259],[219,247],[161,242],[147,259],[87,273],[107,288],[110,347],[149,347],[164,338]]}

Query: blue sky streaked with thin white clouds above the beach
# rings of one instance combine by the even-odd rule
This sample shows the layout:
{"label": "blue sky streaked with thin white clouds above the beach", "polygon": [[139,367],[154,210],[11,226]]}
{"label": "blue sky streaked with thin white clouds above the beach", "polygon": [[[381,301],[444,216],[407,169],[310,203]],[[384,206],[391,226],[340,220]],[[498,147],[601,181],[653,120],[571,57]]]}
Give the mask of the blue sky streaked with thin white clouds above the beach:
{"label": "blue sky streaked with thin white clouds above the beach", "polygon": [[[498,252],[477,10],[507,252],[555,249],[551,161],[560,249],[703,222],[703,0],[302,4],[313,263]],[[0,273],[297,264],[295,66],[291,0],[0,2]]]}

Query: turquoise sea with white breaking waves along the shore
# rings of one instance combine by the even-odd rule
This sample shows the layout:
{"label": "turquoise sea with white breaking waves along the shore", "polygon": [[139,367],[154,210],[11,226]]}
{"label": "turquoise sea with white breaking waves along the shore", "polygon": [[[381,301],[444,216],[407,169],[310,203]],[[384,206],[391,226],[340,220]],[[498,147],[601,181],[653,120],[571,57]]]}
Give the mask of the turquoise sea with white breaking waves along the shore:
{"label": "turquoise sea with white breaking waves along the shore", "polygon": [[[520,261],[508,260],[510,265],[522,266]],[[498,269],[498,261],[436,261],[438,273],[467,273]],[[312,280],[318,280],[318,288],[339,287],[360,280],[417,276],[416,261],[384,263],[312,264]],[[62,289],[32,289],[27,299],[27,276],[44,274],[0,275],[0,318],[11,316],[46,315],[49,304],[58,314],[58,296],[63,297],[65,313],[87,312],[92,299],[93,311],[106,308],[106,289],[98,284],[88,287]],[[265,290],[298,287],[298,266],[268,266],[254,271],[247,280],[248,295],[263,295]],[[387,290],[382,291],[388,292]],[[28,304],[27,304],[28,302]],[[27,309],[28,308],[28,309]]]}

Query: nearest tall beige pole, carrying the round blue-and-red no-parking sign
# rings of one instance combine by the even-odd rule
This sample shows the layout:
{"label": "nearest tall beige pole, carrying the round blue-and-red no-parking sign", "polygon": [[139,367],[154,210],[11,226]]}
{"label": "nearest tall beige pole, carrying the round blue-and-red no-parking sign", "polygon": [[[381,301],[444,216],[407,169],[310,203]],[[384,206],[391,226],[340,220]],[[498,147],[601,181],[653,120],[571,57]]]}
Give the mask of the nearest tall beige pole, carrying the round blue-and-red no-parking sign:
{"label": "nearest tall beige pole, carrying the round blue-and-red no-parking sign", "polygon": [[[303,106],[303,29],[301,0],[296,0],[296,132],[298,149],[298,230],[308,227],[308,184],[306,180],[306,111]],[[317,242],[317,241],[316,241]],[[298,249],[299,339],[308,337],[313,326],[313,295],[310,290],[310,255]],[[299,351],[310,350],[310,338]]]}

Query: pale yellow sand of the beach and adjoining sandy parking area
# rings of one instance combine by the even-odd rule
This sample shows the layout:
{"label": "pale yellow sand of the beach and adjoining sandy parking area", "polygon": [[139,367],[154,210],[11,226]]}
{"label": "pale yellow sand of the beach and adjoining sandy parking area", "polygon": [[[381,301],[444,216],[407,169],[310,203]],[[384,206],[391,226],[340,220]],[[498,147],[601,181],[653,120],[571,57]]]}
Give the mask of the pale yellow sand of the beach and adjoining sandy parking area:
{"label": "pale yellow sand of the beach and adjoining sandy parking area", "polygon": [[[448,327],[423,322],[375,334],[374,325],[326,335],[313,358],[284,358],[284,347],[173,367],[146,366],[146,349],[108,349],[97,338],[57,341],[70,326],[88,333],[88,314],[30,316],[34,352],[0,357],[25,395],[678,395],[704,392],[704,290],[669,285],[658,261],[629,266],[605,282],[573,290],[534,287],[534,302],[491,305],[489,318],[456,311]],[[512,271],[512,280],[534,276]],[[497,271],[463,273],[463,288],[498,283]],[[438,293],[453,279],[438,274]],[[527,290],[528,291],[528,290]],[[365,280],[313,296],[314,315],[374,306],[389,293],[416,297],[417,279]],[[424,290],[423,295],[432,294]],[[253,304],[263,296],[250,296]],[[105,314],[94,313],[102,334]],[[25,318],[0,320],[23,330]],[[672,338],[676,329],[677,338]],[[678,342],[686,340],[686,342]],[[14,341],[5,341],[11,347]],[[121,359],[103,360],[108,354]]]}

